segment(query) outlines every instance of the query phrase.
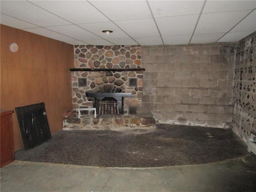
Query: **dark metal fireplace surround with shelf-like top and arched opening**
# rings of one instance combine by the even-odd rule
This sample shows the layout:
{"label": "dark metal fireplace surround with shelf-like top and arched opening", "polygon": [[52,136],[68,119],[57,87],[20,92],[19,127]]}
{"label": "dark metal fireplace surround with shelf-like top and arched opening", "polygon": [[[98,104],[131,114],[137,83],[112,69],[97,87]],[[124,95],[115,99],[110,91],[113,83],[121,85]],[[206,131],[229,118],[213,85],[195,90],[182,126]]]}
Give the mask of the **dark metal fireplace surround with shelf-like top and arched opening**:
{"label": "dark metal fireplace surround with shelf-like top and arched opening", "polygon": [[86,93],[86,97],[93,97],[93,106],[96,108],[96,113],[99,114],[100,101],[104,98],[114,98],[118,101],[119,114],[124,114],[124,97],[131,97],[132,93]]}

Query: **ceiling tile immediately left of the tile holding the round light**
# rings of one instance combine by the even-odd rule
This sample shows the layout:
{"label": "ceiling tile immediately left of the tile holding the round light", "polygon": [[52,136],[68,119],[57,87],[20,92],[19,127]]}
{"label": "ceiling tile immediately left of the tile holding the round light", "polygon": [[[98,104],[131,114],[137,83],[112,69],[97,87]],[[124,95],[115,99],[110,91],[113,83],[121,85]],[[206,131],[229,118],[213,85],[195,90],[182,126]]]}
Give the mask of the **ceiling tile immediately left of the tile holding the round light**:
{"label": "ceiling tile immediately left of the tile holding the round light", "polygon": [[46,27],[47,29],[53,30],[60,34],[64,34],[76,40],[92,40],[101,39],[100,37],[76,26],[76,25],[63,25],[63,26],[52,26]]}

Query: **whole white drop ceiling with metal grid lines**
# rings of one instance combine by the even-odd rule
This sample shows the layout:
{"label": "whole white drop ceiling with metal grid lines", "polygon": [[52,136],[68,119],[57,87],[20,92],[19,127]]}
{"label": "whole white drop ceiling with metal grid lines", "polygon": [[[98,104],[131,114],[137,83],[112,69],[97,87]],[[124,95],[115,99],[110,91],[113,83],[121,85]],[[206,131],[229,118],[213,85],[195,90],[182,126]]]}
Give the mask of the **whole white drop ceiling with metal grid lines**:
{"label": "whole white drop ceiling with metal grid lines", "polygon": [[256,31],[256,0],[0,0],[0,12],[1,24],[73,45],[237,42]]}

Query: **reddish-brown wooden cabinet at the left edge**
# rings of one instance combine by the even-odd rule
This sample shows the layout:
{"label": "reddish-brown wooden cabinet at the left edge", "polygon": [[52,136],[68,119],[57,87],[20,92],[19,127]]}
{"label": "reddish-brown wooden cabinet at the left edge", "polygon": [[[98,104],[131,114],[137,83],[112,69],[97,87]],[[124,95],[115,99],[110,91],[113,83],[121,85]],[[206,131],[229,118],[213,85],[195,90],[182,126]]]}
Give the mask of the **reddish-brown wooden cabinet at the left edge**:
{"label": "reddish-brown wooden cabinet at the left edge", "polygon": [[12,128],[13,110],[1,110],[1,167],[14,161],[14,140]]}

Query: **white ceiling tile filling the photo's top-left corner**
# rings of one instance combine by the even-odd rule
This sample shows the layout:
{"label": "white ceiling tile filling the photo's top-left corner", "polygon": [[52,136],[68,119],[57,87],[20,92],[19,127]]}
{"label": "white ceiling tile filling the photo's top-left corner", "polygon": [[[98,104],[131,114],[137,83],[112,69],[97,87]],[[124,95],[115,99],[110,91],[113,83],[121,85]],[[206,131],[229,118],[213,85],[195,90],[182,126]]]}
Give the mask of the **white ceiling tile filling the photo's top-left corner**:
{"label": "white ceiling tile filling the photo's top-left corner", "polygon": [[66,25],[70,22],[28,1],[1,1],[1,13],[38,26]]}

